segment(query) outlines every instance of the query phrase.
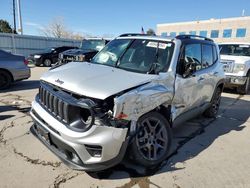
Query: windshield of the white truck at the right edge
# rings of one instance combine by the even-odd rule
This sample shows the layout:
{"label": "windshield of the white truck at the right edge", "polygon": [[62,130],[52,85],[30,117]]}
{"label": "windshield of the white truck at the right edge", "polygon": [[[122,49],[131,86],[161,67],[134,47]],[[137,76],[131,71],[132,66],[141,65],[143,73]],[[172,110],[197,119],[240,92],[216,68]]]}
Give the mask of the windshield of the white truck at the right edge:
{"label": "windshield of the white truck at the right edge", "polygon": [[221,55],[250,56],[250,45],[222,44],[219,48]]}

